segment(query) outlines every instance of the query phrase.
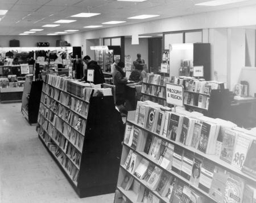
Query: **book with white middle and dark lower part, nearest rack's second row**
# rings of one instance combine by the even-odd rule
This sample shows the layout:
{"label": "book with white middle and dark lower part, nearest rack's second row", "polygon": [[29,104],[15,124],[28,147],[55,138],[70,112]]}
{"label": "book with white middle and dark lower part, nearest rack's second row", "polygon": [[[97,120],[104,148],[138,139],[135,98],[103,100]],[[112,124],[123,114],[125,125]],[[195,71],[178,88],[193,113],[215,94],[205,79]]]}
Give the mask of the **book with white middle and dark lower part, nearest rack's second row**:
{"label": "book with white middle and dark lower part, nearest rack's second row", "polygon": [[199,179],[198,187],[204,192],[209,193],[210,187],[212,185],[213,180],[213,173],[214,173],[214,164],[212,161],[204,160],[202,167],[201,167],[201,175]]}

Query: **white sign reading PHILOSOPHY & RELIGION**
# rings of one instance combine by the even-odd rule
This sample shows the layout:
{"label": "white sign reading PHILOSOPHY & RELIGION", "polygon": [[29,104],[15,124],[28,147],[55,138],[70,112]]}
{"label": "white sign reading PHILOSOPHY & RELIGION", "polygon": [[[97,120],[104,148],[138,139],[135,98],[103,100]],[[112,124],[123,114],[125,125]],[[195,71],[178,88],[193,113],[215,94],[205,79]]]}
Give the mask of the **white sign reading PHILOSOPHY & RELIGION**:
{"label": "white sign reading PHILOSOPHY & RELIGION", "polygon": [[166,83],[166,102],[174,106],[183,106],[183,86]]}

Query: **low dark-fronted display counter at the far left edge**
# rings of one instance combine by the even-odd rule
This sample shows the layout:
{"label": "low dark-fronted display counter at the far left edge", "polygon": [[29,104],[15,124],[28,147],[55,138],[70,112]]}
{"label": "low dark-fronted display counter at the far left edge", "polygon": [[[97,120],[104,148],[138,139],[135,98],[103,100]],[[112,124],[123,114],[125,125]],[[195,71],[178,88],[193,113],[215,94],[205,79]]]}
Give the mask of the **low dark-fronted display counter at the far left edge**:
{"label": "low dark-fronted display counter at the far left edge", "polygon": [[23,87],[0,89],[1,103],[21,102]]}

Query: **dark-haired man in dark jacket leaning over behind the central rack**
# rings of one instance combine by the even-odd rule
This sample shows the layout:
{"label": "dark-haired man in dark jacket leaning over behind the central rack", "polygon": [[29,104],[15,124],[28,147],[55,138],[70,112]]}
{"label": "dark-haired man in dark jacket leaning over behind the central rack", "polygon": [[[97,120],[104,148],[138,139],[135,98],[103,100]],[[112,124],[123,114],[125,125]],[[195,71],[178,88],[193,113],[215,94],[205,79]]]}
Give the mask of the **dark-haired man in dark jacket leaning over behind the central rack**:
{"label": "dark-haired man in dark jacket leaning over behind the central rack", "polygon": [[[97,61],[90,60],[90,56],[86,55],[84,59],[82,59],[84,63],[87,65],[87,70],[88,69],[93,69],[94,70],[94,84],[102,84],[105,82],[104,79],[104,74],[102,72],[101,67],[97,64]],[[85,78],[87,78],[87,70],[85,71],[85,76],[84,80],[86,81]]]}

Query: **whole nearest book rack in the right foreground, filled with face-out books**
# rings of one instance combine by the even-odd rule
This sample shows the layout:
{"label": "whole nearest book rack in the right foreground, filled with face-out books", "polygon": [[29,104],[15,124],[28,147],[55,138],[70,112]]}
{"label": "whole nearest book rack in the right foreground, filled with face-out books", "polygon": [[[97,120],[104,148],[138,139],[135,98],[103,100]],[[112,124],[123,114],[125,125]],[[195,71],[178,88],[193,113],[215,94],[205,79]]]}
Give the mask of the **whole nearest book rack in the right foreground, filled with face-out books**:
{"label": "whole nearest book rack in the right foreground, filled with face-out books", "polygon": [[255,132],[159,107],[129,111],[114,203],[253,202]]}

